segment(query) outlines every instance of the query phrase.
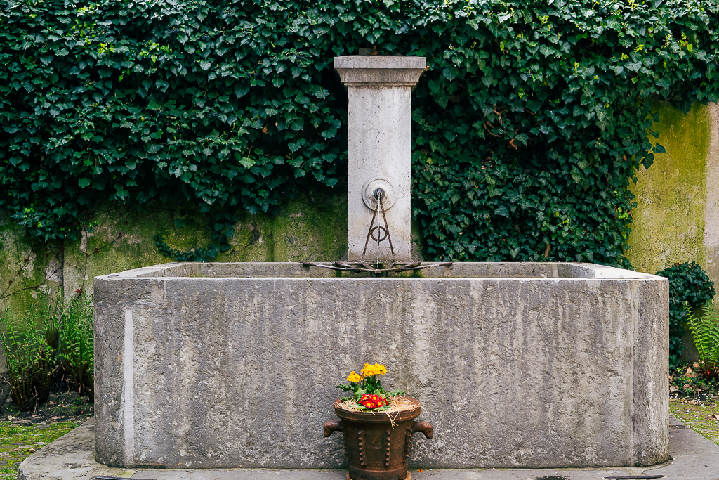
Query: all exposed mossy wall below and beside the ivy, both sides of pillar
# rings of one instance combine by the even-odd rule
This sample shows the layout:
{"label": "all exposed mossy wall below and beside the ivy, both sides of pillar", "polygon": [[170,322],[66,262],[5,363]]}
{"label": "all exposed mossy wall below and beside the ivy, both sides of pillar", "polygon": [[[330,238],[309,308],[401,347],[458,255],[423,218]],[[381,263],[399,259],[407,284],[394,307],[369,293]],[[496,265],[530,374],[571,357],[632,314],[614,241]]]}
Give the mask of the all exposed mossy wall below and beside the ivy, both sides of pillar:
{"label": "all exposed mossy wall below and beside the ivy, both sides of pillar", "polygon": [[[648,170],[641,168],[631,187],[637,206],[631,212],[627,256],[633,268],[647,273],[694,260],[719,284],[719,107],[695,105],[684,115],[657,103],[654,111],[659,122],[652,130],[659,132],[667,152],[656,154]],[[232,248],[219,253],[216,261],[343,258],[346,189],[346,184],[339,184],[335,189],[304,191],[285,202],[277,216],[238,210]],[[178,224],[187,225],[176,227],[179,219],[183,221]],[[32,246],[22,227],[9,220],[0,220],[0,286],[5,295],[18,293],[0,299],[0,307],[21,311],[32,307],[35,296],[27,286],[42,284],[69,298],[79,289],[92,291],[93,276],[173,261],[157,249],[152,240],[157,233],[180,250],[211,243],[206,217],[188,216],[168,205],[146,214],[101,209],[89,235],[83,232],[78,240]],[[418,225],[413,225],[413,258],[421,258],[422,248]]]}

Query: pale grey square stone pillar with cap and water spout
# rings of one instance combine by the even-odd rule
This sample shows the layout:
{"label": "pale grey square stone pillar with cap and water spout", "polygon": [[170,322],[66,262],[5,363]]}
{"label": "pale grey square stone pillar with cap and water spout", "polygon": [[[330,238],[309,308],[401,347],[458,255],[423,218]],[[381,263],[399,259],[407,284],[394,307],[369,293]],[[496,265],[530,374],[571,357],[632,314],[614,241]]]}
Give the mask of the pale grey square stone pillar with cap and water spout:
{"label": "pale grey square stone pillar with cap and water spout", "polygon": [[[426,67],[424,57],[353,55],[335,57],[334,68],[347,86],[349,105],[349,260],[357,261],[367,240],[377,200],[383,205],[398,261],[411,259],[411,95]],[[384,226],[381,214],[379,225]],[[377,242],[365,260],[377,259]],[[387,240],[380,260],[391,260]]]}

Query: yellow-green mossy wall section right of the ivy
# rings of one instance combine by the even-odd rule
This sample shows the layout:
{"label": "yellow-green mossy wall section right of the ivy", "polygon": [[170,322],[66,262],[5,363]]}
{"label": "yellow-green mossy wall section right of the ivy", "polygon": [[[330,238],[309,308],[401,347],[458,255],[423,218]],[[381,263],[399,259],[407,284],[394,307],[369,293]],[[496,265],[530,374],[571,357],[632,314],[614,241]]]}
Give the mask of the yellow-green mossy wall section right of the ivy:
{"label": "yellow-green mossy wall section right of the ivy", "polygon": [[[656,273],[672,263],[696,261],[705,268],[704,219],[706,162],[710,143],[707,107],[695,105],[684,115],[661,102],[652,131],[666,153],[637,172],[632,187],[637,207],[632,212],[628,258],[633,268]],[[653,139],[654,140],[654,139]]]}

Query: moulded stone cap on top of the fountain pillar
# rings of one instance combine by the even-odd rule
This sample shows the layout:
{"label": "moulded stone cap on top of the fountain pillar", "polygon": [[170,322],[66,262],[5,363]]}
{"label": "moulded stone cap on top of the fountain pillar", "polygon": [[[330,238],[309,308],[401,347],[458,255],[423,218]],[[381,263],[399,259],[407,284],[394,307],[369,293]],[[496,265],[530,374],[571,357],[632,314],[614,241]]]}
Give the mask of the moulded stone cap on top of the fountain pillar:
{"label": "moulded stone cap on top of the fountain pillar", "polygon": [[415,86],[426,70],[424,57],[348,55],[334,58],[345,86]]}

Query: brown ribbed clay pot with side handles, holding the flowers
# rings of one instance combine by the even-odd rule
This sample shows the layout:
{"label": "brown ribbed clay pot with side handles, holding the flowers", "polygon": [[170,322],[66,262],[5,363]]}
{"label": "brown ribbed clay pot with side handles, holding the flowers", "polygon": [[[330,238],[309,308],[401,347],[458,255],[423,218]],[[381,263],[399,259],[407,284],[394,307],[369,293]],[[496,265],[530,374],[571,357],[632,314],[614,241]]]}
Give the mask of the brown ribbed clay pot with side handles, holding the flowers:
{"label": "brown ribbed clay pot with side handles, holding the flowers", "polygon": [[419,400],[408,399],[414,408],[400,412],[396,417],[392,414],[392,421],[385,412],[351,412],[335,404],[334,413],[341,420],[326,422],[324,436],[342,432],[344,451],[349,459],[349,479],[411,479],[407,461],[412,449],[412,434],[421,432],[426,438],[432,438],[432,425],[414,420],[422,407]]}

